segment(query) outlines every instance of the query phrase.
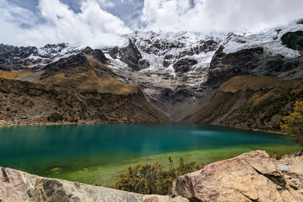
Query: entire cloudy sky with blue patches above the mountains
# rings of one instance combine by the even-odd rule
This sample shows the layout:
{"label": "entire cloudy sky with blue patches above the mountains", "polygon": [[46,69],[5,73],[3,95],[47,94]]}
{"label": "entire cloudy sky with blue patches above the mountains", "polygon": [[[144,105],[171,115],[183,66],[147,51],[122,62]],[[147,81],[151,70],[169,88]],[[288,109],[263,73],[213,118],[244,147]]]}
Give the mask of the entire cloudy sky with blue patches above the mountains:
{"label": "entire cloudy sky with blue patches above the mountains", "polygon": [[0,43],[102,48],[132,31],[250,31],[303,17],[302,0],[0,0]]}

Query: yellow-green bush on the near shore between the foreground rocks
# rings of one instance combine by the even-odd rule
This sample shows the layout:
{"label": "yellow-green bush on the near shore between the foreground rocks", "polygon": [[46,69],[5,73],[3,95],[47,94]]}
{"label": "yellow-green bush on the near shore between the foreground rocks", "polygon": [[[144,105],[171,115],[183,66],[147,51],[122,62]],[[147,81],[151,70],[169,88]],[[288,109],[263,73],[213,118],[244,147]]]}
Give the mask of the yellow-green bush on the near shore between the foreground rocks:
{"label": "yellow-green bush on the near shore between the foreground rocks", "polygon": [[129,167],[127,173],[119,175],[113,188],[138,194],[167,195],[171,194],[172,182],[178,176],[201,169],[195,161],[185,164],[183,158],[180,158],[179,165],[175,167],[171,157],[168,160],[168,170],[159,162]]}

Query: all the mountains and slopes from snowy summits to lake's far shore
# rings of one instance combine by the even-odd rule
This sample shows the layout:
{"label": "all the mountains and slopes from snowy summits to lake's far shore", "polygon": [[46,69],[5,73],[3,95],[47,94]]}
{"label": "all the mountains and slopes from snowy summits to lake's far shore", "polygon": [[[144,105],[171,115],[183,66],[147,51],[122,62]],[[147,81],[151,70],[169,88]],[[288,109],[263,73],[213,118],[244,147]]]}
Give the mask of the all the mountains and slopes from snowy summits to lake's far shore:
{"label": "all the mountains and slopes from snowy summits to lake's far shore", "polygon": [[102,50],[1,44],[0,121],[186,121],[279,131],[303,99],[302,33],[298,22],[256,32],[135,31]]}

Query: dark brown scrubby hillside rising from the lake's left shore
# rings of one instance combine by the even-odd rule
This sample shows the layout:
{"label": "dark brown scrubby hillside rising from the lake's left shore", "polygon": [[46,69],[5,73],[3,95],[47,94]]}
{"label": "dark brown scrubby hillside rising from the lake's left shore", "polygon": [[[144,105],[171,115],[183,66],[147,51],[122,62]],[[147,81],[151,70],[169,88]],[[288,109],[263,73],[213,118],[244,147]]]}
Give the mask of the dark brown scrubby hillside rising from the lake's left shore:
{"label": "dark brown scrubby hillside rising from the lake's left shore", "polygon": [[99,93],[0,78],[0,124],[163,122],[141,90]]}

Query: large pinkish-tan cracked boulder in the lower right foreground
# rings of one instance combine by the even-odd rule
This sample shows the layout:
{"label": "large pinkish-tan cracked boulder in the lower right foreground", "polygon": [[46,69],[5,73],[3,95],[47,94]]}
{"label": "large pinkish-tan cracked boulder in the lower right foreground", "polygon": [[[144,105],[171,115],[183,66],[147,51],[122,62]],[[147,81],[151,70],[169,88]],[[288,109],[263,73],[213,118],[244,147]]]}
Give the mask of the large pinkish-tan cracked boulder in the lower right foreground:
{"label": "large pinkish-tan cracked boulder in the lower right foreground", "polygon": [[260,150],[178,177],[172,192],[190,201],[303,201],[303,190]]}

